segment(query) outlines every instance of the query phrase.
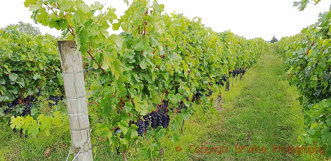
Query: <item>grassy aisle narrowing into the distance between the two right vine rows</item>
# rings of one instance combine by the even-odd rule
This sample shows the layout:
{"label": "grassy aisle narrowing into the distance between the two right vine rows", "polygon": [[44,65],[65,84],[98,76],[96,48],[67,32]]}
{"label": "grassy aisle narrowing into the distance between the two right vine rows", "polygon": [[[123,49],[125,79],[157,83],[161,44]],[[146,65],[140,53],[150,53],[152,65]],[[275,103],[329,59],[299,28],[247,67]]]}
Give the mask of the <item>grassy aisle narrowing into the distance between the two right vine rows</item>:
{"label": "grassy aisle narrowing into the distance between the two right vine rows", "polygon": [[[181,152],[166,153],[166,160],[324,160],[317,154],[286,154],[272,152],[273,145],[298,147],[298,135],[304,133],[302,107],[296,100],[298,92],[285,81],[283,61],[273,48],[244,78],[222,94],[221,119],[194,116],[181,134]],[[233,81],[235,81],[234,79]],[[177,145],[170,145],[175,149]],[[235,145],[265,147],[266,152],[235,153]],[[189,150],[189,146],[190,147]],[[228,147],[222,154],[191,153],[195,147]],[[303,145],[306,146],[306,145]],[[204,151],[204,150],[203,150]],[[218,150],[219,151],[219,150]],[[238,152],[239,150],[237,150]],[[216,158],[216,159],[215,159]]]}

